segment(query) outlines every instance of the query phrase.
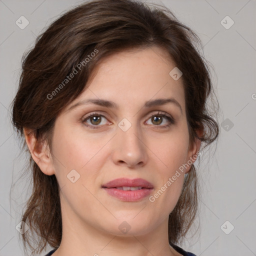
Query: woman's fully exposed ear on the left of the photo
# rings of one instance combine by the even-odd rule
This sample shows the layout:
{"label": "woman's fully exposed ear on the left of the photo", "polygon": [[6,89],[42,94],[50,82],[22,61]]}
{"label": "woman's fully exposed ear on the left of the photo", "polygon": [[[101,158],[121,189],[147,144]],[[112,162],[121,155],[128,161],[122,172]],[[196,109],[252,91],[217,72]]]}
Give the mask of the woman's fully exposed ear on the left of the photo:
{"label": "woman's fully exposed ear on the left of the photo", "polygon": [[40,170],[46,175],[54,174],[55,171],[48,144],[45,141],[38,141],[35,138],[34,131],[31,129],[23,128],[23,132],[30,154]]}

